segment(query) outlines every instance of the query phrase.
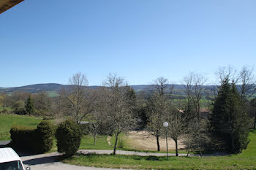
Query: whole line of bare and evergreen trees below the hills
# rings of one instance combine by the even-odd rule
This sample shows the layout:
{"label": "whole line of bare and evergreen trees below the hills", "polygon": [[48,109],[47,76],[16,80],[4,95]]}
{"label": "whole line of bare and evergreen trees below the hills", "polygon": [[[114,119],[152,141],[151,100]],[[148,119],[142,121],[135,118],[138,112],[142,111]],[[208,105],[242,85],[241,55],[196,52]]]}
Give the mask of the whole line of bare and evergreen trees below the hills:
{"label": "whole line of bare and evergreen trees below the hills", "polygon": [[[86,125],[86,131],[94,136],[110,134],[116,137],[113,154],[121,132],[148,131],[157,139],[167,134],[176,143],[184,139],[188,153],[197,150],[225,150],[238,153],[248,144],[249,125],[255,128],[255,75],[253,69],[243,67],[237,72],[231,67],[217,71],[219,85],[206,90],[203,74],[190,73],[184,77],[186,100],[173,100],[173,87],[165,77],[158,77],[147,98],[136,96],[135,91],[123,78],[109,74],[99,88],[89,88],[85,74],[70,77],[70,89],[61,90],[59,96],[13,93],[4,96],[5,105],[15,113],[30,115],[54,115],[73,117],[76,123]],[[208,112],[204,115],[201,99],[207,93]],[[1,98],[0,98],[1,99]],[[162,123],[169,123],[165,128]]]}

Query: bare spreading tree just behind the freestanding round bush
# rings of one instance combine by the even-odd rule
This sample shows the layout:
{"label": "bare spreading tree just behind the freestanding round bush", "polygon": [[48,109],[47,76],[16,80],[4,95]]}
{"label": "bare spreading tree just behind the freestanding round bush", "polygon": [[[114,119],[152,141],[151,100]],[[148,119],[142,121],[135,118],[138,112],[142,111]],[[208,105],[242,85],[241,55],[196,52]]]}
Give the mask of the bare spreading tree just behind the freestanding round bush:
{"label": "bare spreading tree just behind the freestanding round bush", "polygon": [[75,117],[77,123],[83,120],[86,115],[94,111],[96,96],[94,91],[88,88],[88,80],[85,74],[80,72],[74,74],[70,80],[70,92],[65,92],[69,112]]}

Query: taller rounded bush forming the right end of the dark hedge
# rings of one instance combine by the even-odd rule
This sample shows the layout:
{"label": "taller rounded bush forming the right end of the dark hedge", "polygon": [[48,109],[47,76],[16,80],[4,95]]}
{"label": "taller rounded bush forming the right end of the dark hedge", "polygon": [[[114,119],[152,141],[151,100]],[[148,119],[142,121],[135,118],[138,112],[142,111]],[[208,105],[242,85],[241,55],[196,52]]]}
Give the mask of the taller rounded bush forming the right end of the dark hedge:
{"label": "taller rounded bush forming the right end of the dark hedge", "polygon": [[37,152],[47,152],[53,147],[53,125],[43,120],[37,125],[36,150]]}

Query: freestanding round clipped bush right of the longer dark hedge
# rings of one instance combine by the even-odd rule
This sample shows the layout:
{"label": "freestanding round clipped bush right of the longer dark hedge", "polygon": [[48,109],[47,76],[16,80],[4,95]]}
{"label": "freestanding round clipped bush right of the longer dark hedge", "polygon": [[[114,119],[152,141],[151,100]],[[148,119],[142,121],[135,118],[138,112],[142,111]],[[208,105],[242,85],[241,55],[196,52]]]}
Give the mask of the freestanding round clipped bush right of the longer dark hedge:
{"label": "freestanding round clipped bush right of the longer dark hedge", "polygon": [[69,157],[78,151],[81,142],[82,131],[77,123],[66,120],[56,129],[58,152],[64,152]]}

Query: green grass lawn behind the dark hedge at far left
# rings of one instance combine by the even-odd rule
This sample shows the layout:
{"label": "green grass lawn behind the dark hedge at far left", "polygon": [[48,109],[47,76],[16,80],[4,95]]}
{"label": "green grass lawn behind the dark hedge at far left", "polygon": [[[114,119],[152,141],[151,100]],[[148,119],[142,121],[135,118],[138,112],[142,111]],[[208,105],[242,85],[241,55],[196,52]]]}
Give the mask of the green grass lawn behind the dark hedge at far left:
{"label": "green grass lawn behind the dark hedge at far left", "polygon": [[0,140],[10,140],[12,125],[25,125],[36,128],[42,120],[26,115],[0,114]]}

